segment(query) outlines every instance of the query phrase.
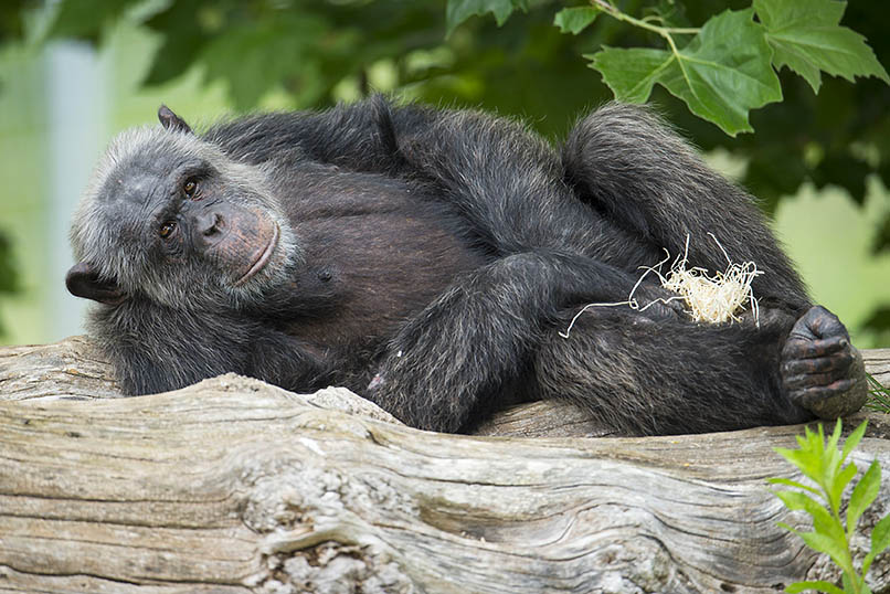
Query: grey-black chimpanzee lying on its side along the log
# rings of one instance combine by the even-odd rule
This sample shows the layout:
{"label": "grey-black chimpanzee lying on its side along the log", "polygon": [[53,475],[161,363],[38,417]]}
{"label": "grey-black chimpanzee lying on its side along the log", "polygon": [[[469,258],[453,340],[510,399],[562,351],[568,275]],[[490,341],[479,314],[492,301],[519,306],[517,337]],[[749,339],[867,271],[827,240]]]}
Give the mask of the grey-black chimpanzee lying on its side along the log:
{"label": "grey-black chimpanzee lying on its side along the log", "polygon": [[[231,119],[169,108],[120,134],[74,218],[66,284],[130,394],[234,371],[346,385],[409,425],[570,399],[627,434],[803,422],[865,397],[744,191],[649,110],[607,105],[560,150],[521,124],[380,96]],[[626,300],[642,265],[723,253],[765,274],[760,318],[699,323]],[[695,241],[700,240],[700,241]],[[646,279],[642,303],[669,294]],[[837,401],[838,397],[834,397]]]}

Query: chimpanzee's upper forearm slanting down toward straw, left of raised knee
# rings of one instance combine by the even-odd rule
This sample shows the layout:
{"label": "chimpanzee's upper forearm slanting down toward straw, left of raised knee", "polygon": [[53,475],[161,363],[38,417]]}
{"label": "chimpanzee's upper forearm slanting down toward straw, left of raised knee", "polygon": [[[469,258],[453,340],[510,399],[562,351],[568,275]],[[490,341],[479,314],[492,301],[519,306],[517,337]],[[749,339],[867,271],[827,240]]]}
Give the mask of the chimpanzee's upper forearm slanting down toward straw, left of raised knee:
{"label": "chimpanzee's upper forearm slanting down toward straw, left of raised knee", "polygon": [[525,126],[467,110],[414,125],[424,113],[393,113],[402,170],[433,183],[495,256],[553,250],[634,273],[661,257],[634,230],[578,200],[557,152]]}

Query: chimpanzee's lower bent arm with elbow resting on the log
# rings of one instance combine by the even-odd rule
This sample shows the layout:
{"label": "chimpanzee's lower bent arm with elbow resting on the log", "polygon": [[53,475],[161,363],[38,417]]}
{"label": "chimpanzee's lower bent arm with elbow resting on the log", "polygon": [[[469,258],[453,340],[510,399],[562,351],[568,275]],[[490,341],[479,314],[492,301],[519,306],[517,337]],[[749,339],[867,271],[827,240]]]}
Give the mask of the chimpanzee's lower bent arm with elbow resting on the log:
{"label": "chimpanzee's lower bent arm with elbow resting on the log", "polygon": [[[554,325],[563,308],[624,300],[635,283],[629,273],[575,254],[538,250],[499,258],[458,278],[404,325],[365,395],[409,425],[445,432],[467,428],[478,407],[517,393],[552,396],[528,370],[547,337],[568,328]],[[650,286],[638,291],[644,303],[666,296]],[[656,303],[627,322],[677,317]]]}

